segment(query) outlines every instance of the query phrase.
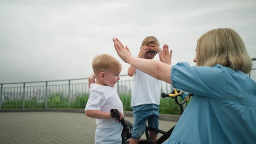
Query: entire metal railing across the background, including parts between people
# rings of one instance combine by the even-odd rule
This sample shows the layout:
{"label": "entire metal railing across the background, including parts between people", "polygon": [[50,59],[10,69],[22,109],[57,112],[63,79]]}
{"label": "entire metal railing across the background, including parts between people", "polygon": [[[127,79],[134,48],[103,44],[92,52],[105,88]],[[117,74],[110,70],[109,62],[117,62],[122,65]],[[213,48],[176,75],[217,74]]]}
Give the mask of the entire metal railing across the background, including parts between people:
{"label": "entire metal railing across the background, including parts between people", "polygon": [[[252,58],[252,61],[256,61],[256,58]],[[249,76],[251,77],[251,73]],[[115,85],[124,110],[131,109],[132,82],[132,77],[120,75],[120,80]],[[161,82],[161,92],[172,91],[172,85]],[[84,109],[89,93],[88,78],[1,83],[0,109],[48,109],[48,107]],[[173,99],[160,100],[160,109],[170,109],[173,105],[175,105]]]}

